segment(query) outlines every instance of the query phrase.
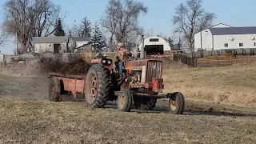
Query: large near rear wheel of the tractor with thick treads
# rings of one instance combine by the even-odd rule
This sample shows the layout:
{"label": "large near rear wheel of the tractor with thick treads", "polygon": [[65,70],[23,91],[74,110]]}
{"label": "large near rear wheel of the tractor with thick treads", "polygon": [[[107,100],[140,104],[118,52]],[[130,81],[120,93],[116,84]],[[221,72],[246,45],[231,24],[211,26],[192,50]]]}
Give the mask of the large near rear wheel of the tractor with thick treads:
{"label": "large near rear wheel of the tractor with thick treads", "polygon": [[109,74],[106,68],[96,64],[86,74],[85,99],[88,106],[104,107],[110,94]]}

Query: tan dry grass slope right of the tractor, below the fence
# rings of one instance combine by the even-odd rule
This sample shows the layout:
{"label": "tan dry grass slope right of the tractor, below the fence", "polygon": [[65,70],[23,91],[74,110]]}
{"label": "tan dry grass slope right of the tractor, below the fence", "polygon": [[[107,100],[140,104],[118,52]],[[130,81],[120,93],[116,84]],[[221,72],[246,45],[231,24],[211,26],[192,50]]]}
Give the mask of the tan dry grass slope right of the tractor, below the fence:
{"label": "tan dry grass slope right of the tractor, below the fence", "polygon": [[186,98],[256,105],[256,66],[166,69],[164,92],[180,91]]}

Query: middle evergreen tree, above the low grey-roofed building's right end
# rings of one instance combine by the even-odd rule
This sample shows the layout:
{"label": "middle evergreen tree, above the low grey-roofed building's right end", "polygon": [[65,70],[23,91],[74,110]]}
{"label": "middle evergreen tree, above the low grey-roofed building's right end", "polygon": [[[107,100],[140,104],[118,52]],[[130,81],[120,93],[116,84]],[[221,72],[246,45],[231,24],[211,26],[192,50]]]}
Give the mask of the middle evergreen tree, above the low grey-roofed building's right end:
{"label": "middle evergreen tree, above the low grey-roofed building's right end", "polygon": [[90,33],[91,33],[91,23],[89,21],[89,19],[83,18],[82,19],[82,24],[80,26],[80,37],[89,37],[90,38]]}

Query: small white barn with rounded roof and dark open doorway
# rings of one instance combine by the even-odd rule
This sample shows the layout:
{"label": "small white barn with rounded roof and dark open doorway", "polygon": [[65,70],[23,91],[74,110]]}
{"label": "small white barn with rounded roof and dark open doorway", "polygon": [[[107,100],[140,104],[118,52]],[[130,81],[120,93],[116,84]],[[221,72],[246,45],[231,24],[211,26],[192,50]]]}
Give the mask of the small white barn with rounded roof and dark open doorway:
{"label": "small white barn with rounded roof and dark open doorway", "polygon": [[[138,46],[141,50],[142,43]],[[144,49],[146,54],[166,54],[170,53],[170,44],[160,37],[149,37],[144,39]]]}

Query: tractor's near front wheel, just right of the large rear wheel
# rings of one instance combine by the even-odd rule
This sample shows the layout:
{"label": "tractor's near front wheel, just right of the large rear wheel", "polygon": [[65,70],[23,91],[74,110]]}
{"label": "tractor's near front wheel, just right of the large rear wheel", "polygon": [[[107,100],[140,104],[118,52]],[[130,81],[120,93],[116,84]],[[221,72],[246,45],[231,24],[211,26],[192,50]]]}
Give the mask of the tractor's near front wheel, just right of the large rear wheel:
{"label": "tractor's near front wheel, just right of the large rear wheel", "polygon": [[133,94],[130,90],[121,90],[118,94],[118,110],[129,112],[132,106]]}

